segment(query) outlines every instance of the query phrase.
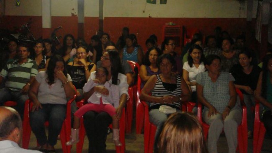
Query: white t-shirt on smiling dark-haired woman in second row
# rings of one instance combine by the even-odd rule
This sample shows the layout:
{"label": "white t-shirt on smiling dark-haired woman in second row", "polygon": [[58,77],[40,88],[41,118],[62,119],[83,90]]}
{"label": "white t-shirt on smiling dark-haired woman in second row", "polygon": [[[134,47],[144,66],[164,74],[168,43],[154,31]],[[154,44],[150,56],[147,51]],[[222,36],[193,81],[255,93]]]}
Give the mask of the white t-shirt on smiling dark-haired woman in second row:
{"label": "white t-shirt on smiling dark-haired woman in second row", "polygon": [[[200,73],[200,72],[204,72],[205,71],[205,66],[204,66],[204,64],[202,62],[202,63],[200,63],[198,68],[195,67],[194,64],[193,64],[193,67],[190,67],[190,65],[188,64],[188,61],[186,61],[183,64],[183,69],[189,72],[189,81],[190,82],[196,82],[197,74]],[[192,89],[192,92],[195,92],[196,91],[196,86],[191,86],[191,89]]]}

